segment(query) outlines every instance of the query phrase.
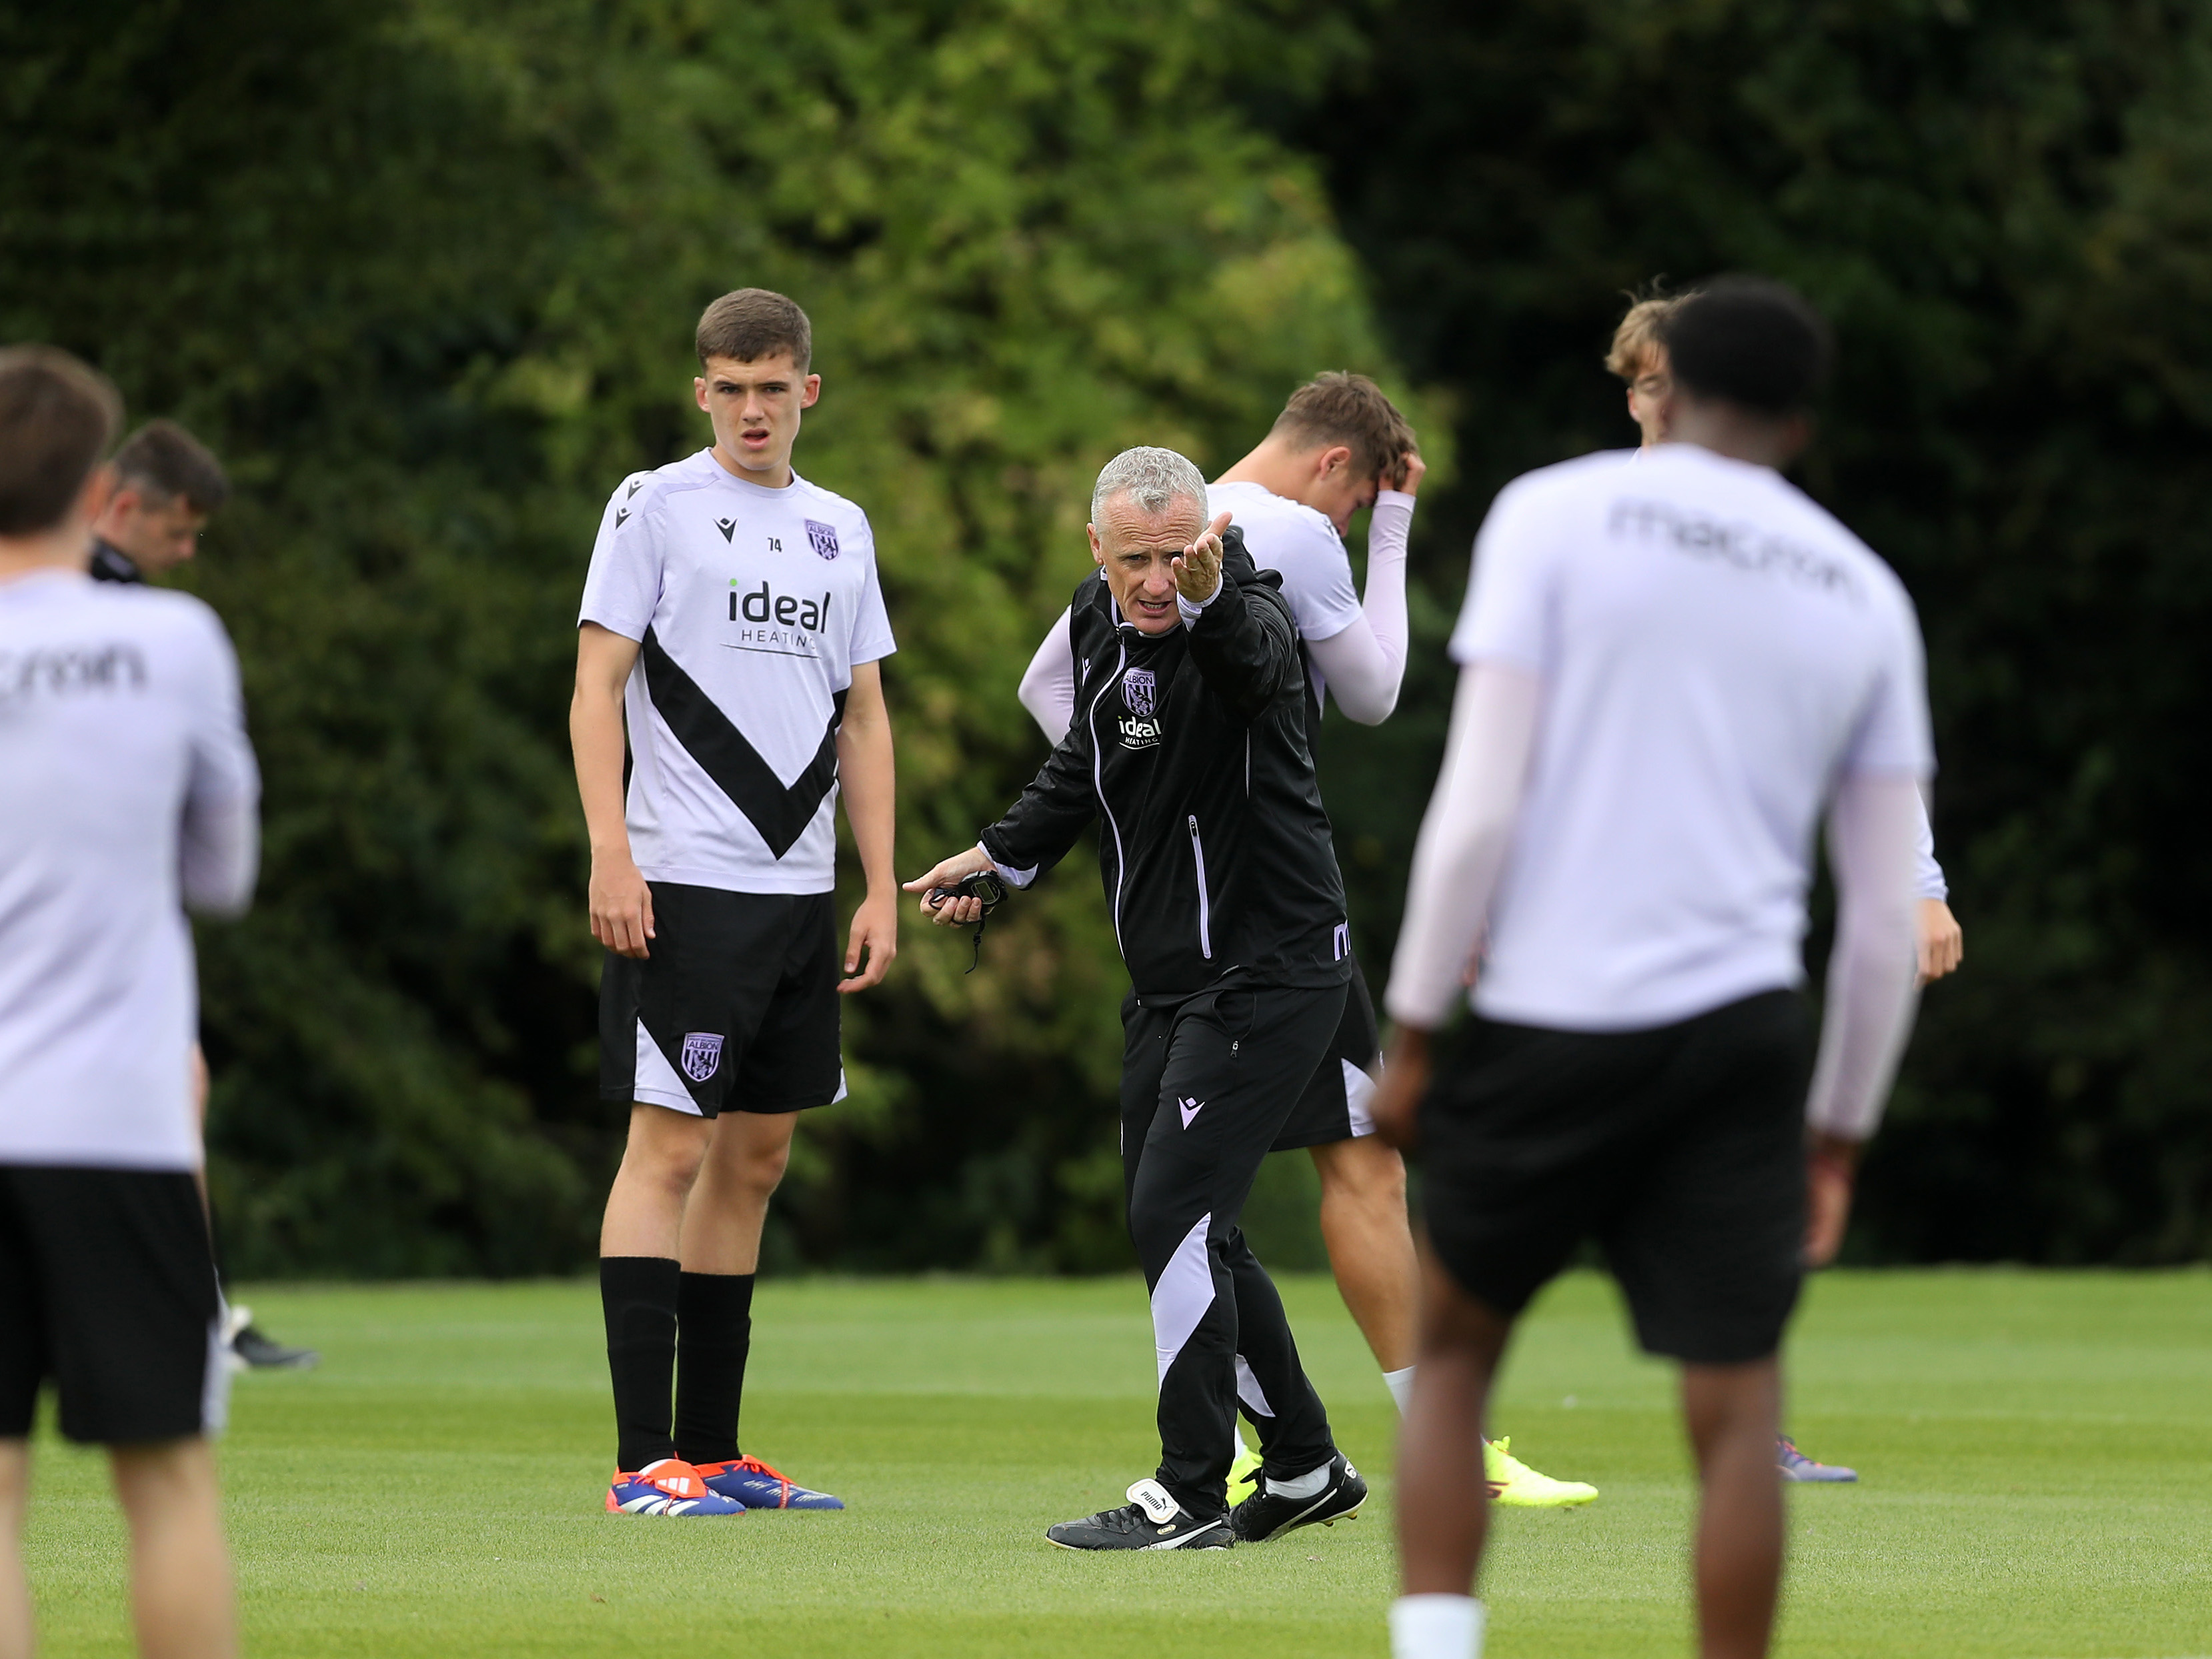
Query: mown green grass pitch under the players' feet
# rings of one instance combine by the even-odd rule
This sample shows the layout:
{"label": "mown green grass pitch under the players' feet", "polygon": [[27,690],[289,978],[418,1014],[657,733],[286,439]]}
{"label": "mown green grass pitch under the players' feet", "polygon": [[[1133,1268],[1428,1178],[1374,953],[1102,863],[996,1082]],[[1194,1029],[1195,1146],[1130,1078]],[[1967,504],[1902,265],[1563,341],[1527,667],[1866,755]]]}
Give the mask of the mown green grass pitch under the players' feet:
{"label": "mown green grass pitch under the players' feet", "polygon": [[[1152,1467],[1135,1281],[765,1285],[748,1449],[854,1509],[697,1524],[599,1513],[588,1285],[248,1298],[325,1352],[234,1396],[223,1471],[259,1655],[1387,1650],[1391,1409],[1325,1279],[1285,1298],[1378,1502],[1194,1557],[1037,1537]],[[1865,1480],[1792,1493],[1785,1655],[2212,1655],[2212,1274],[1836,1274],[1792,1367],[1798,1438]],[[1686,1652],[1670,1376],[1630,1352],[1604,1281],[1537,1307],[1498,1425],[1604,1498],[1500,1515],[1491,1655]],[[38,1447],[29,1551],[44,1652],[128,1652],[97,1455]]]}

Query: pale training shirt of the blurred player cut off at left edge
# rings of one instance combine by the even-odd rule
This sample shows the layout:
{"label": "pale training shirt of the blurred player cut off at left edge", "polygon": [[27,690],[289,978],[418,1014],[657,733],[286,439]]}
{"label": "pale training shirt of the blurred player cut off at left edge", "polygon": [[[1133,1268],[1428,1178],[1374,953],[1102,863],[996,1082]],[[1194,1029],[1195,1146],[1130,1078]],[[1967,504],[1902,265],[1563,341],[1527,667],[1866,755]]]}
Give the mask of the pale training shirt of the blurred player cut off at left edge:
{"label": "pale training shirt of the blurred player cut off at left edge", "polygon": [[184,907],[246,907],[257,796],[208,606],[0,582],[0,1164],[199,1168]]}

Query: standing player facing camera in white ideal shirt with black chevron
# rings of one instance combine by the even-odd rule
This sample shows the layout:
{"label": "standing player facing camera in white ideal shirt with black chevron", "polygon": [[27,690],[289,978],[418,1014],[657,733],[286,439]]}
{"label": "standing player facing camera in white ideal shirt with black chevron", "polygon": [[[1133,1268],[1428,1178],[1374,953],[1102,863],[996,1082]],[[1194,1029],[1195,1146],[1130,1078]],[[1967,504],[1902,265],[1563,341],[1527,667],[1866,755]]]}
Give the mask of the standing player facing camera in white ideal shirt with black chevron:
{"label": "standing player facing camera in white ideal shirt with black chevron", "polygon": [[[807,314],[743,288],[697,347],[714,442],[608,500],[568,712],[606,947],[599,1097],[630,1115],[599,1234],[606,1509],[843,1509],[743,1455],[737,1422],[796,1115],[845,1097],[838,1000],[898,953],[891,626],[867,515],[792,471],[821,396]],[[843,956],[841,792],[867,876]]]}

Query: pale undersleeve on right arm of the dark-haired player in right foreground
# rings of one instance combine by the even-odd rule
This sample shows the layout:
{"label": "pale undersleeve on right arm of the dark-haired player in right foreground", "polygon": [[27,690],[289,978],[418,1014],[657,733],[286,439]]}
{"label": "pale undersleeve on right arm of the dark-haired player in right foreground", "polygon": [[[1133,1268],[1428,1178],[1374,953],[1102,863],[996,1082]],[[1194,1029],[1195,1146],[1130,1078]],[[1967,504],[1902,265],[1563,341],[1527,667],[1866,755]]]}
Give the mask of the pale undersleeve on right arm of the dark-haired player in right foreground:
{"label": "pale undersleeve on right arm of the dark-haired player in right foreground", "polygon": [[1836,949],[1807,1121],[1865,1141],[1889,1099],[1913,1024],[1913,832],[1909,779],[1847,779],[1829,816]]}

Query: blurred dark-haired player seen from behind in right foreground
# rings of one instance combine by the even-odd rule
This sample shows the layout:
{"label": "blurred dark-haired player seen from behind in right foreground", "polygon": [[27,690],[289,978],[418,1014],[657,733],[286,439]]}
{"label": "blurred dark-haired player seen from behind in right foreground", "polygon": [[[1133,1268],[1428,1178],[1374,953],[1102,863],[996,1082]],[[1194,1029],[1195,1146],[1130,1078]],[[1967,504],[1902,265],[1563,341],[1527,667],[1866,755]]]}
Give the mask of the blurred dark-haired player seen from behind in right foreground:
{"label": "blurred dark-haired player seen from behind in right foreground", "polygon": [[[1701,1652],[1767,1650],[1781,1336],[1843,1239],[1911,1024],[1920,630],[1896,575],[1778,471],[1827,332],[1790,290],[1732,279],[1663,343],[1666,442],[1500,491],[1453,633],[1376,1095],[1387,1135],[1418,1117],[1431,1243],[1396,1659],[1480,1652],[1482,1411],[1513,1321],[1584,1237],[1646,1352],[1683,1367]],[[1814,1064],[1823,816],[1838,914]],[[1484,936],[1475,1018],[1431,1075]]]}

